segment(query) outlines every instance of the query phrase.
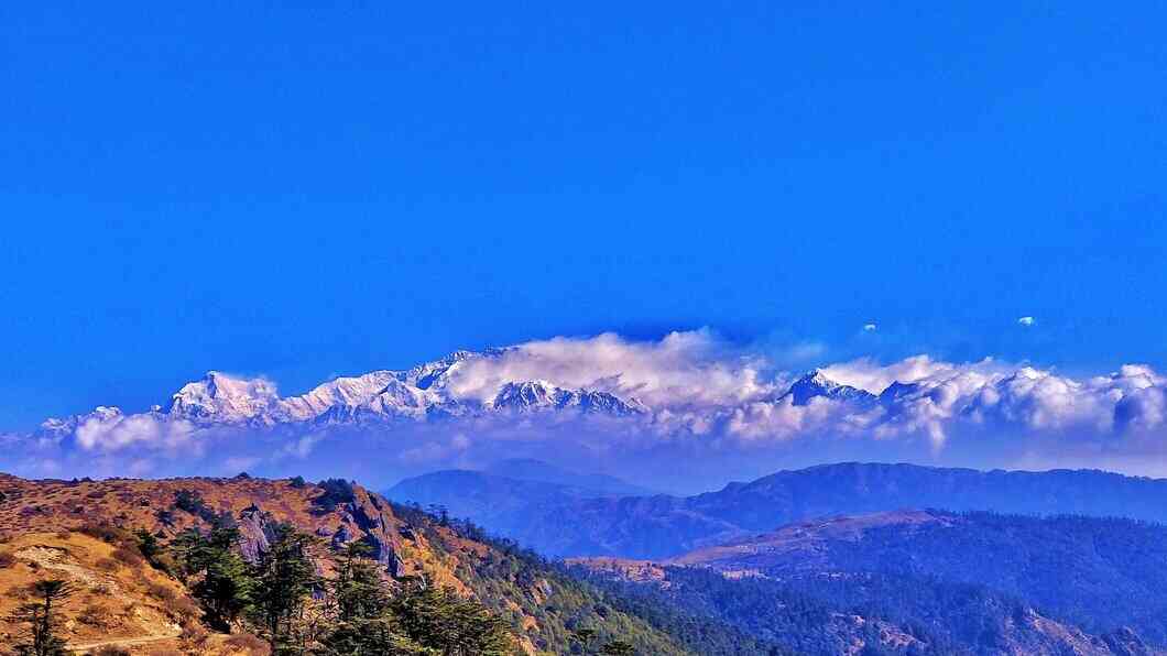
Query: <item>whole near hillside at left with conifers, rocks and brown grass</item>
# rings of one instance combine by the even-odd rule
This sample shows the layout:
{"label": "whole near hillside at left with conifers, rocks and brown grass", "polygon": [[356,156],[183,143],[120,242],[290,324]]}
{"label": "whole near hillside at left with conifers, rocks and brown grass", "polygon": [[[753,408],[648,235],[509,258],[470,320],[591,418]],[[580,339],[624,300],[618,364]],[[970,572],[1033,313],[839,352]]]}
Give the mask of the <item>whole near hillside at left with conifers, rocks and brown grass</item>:
{"label": "whole near hillside at left with conifers, rocks and brown grass", "polygon": [[[32,584],[62,581],[61,647],[201,654],[252,635],[289,654],[701,652],[511,544],[347,481],[2,476],[0,531],[11,608],[44,601]],[[107,628],[85,615],[102,591],[125,617]],[[133,619],[144,613],[156,619]],[[39,640],[34,616],[6,617],[13,645]]]}

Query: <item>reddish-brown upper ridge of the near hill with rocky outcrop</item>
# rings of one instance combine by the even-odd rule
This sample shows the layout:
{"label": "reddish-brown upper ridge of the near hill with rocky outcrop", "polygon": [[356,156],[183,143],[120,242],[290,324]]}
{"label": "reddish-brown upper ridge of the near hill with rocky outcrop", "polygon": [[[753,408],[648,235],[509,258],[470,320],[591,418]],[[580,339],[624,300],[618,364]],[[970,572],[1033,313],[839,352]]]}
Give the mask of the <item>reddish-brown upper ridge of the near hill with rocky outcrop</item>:
{"label": "reddish-brown upper ridge of the near hill with rocky outcrop", "polygon": [[[466,586],[454,574],[459,558],[482,549],[440,526],[422,531],[383,497],[340,480],[321,484],[246,477],[28,481],[0,475],[0,531],[7,533],[105,521],[165,538],[225,518],[238,526],[244,556],[254,558],[267,547],[273,529],[286,523],[334,549],[364,542],[392,575],[424,574],[463,592]],[[443,544],[432,544],[427,532]]]}

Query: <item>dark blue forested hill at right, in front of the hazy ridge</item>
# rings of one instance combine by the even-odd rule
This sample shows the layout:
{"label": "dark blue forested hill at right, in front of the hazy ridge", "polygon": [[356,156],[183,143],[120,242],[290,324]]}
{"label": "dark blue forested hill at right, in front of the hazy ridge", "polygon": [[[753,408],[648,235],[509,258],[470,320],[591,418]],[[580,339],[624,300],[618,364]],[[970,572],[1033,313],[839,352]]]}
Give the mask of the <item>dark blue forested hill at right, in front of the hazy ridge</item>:
{"label": "dark blue forested hill at right, in front of the hazy ridge", "polygon": [[1162,654],[1167,526],[904,510],[798,522],[668,564],[582,559],[647,608],[801,654]]}

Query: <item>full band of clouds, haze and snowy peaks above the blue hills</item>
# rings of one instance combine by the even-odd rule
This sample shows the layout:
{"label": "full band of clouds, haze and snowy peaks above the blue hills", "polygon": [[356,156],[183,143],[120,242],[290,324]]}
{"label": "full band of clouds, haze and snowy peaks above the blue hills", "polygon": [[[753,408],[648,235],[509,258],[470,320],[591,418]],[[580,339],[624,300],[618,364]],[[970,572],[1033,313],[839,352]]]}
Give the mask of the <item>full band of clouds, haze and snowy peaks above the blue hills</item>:
{"label": "full band of clouds, haze and snowy peaks above the blue hills", "polygon": [[673,470],[854,458],[1160,473],[1167,378],[1144,364],[1071,377],[922,354],[808,375],[783,370],[774,353],[710,330],[555,337],[289,397],[265,378],[211,372],[148,412],[98,407],[8,435],[0,462],[25,475],[330,466],[387,476],[523,453],[609,470],[651,456]]}

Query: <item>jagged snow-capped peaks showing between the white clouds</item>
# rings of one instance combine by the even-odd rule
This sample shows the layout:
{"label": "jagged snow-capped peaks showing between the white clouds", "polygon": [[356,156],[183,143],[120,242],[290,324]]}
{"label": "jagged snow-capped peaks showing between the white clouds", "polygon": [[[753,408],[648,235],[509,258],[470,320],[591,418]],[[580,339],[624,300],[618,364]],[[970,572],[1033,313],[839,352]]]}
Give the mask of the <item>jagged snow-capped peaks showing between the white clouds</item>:
{"label": "jagged snow-capped peaks showing between the white clouds", "polygon": [[[440,360],[404,370],[378,370],[342,376],[294,396],[280,396],[274,383],[263,377],[242,377],[209,371],[182,385],[165,404],[142,413],[126,413],[103,405],[64,418],[49,418],[35,432],[41,439],[61,440],[83,435],[86,426],[111,425],[132,418],[160,423],[186,423],[194,428],[368,426],[398,420],[440,420],[498,414],[572,413],[613,418],[649,417],[650,407],[636,396],[598,388],[569,388],[546,379],[499,381],[487,396],[457,389],[456,377],[468,364],[497,361],[513,349],[460,350]],[[596,382],[605,386],[602,381]],[[918,385],[893,384],[882,395],[839,384],[812,370],[778,393],[762,399],[769,404],[804,406],[822,398],[865,411],[883,403],[918,400]],[[708,409],[729,416],[732,409]],[[724,417],[725,418],[725,417]],[[91,431],[92,432],[92,431]]]}

